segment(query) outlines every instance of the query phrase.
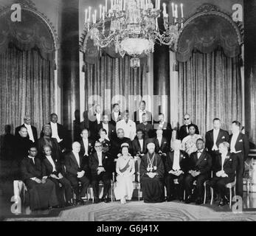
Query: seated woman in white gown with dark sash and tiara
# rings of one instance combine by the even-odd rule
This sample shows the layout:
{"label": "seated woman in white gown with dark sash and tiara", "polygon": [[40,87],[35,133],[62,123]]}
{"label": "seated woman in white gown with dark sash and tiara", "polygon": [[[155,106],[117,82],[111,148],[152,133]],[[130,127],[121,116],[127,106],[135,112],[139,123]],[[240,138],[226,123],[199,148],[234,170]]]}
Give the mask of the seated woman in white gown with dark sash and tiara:
{"label": "seated woman in white gown with dark sash and tiara", "polygon": [[114,188],[114,195],[121,204],[125,204],[126,200],[131,200],[134,192],[133,176],[135,173],[134,159],[128,153],[129,145],[123,143],[121,145],[121,155],[117,159],[117,186]]}

